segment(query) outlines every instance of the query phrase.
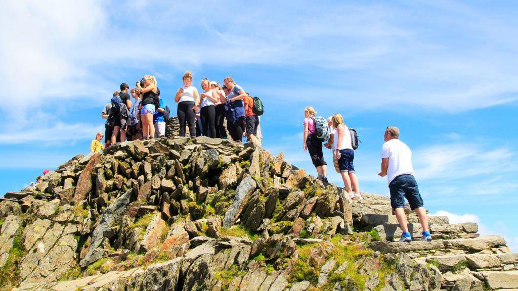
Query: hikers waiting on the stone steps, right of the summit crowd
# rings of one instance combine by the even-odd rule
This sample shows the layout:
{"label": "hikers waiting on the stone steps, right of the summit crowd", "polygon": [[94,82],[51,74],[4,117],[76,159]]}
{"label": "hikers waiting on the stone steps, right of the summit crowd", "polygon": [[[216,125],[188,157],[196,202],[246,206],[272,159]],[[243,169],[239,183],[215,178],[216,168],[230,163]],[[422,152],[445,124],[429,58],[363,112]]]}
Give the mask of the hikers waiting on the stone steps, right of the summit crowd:
{"label": "hikers waiting on the stone steps, right of the summit crowd", "polygon": [[[327,183],[327,163],[322,150],[325,147],[333,151],[335,169],[342,177],[349,198],[362,200],[353,163],[354,150],[358,147],[356,131],[347,127],[339,113],[324,120],[322,117],[316,117],[314,108],[308,106],[304,110],[304,117],[303,148],[304,151],[309,151],[318,179]],[[391,207],[402,230],[399,241],[412,241],[405,214],[405,198],[409,202],[410,209],[418,214],[423,228],[422,240],[431,241],[423,198],[414,178],[412,152],[404,142],[399,140],[399,129],[395,126],[385,128],[383,139],[385,143],[382,146],[381,171],[378,176],[387,177]]]}

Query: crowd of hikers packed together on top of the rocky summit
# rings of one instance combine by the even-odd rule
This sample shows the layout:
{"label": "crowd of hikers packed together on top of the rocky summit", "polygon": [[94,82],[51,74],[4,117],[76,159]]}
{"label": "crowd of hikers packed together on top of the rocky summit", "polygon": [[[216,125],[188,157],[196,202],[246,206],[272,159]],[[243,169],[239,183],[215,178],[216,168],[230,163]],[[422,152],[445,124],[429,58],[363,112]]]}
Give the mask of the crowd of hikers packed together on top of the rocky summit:
{"label": "crowd of hikers packed together on top of the rocky summit", "polygon": [[[185,136],[189,130],[191,138],[203,135],[227,139],[228,130],[236,142],[242,142],[243,137],[262,140],[259,125],[262,101],[251,97],[231,77],[223,80],[223,87],[204,78],[200,91],[193,86],[191,72],[183,74],[182,82],[183,86],[173,94],[178,103],[180,136]],[[130,91],[130,86],[122,83],[120,91],[114,92],[110,103],[105,105],[102,112],[102,118],[107,120],[105,134],[97,133],[91,143],[92,152],[99,152],[116,142],[165,136],[170,111],[165,98],[160,96],[156,78],[146,75],[135,85],[136,88]],[[103,137],[104,144],[101,142]]]}

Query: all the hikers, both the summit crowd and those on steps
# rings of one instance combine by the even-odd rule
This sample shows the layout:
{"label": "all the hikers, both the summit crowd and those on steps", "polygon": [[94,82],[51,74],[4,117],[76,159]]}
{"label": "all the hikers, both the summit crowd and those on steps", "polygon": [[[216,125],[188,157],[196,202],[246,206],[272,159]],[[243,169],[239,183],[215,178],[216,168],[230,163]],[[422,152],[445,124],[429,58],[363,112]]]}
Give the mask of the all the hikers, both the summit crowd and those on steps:
{"label": "all the hikers, both the summit crowd and those on steps", "polygon": [[[235,142],[262,139],[259,115],[263,114],[261,99],[252,98],[231,77],[218,82],[207,78],[201,82],[202,93],[192,85],[191,72],[185,72],[181,86],[173,95],[178,103],[177,116],[180,124],[179,135],[185,137],[186,130],[194,139],[204,135],[212,138],[227,138],[226,130]],[[105,144],[102,133],[97,133],[92,141],[91,151],[99,152],[112,143],[137,139],[153,139],[165,136],[169,108],[160,97],[154,76],[145,76],[131,90],[132,103],[128,94],[129,86],[120,85],[120,91],[113,93],[111,102],[106,104],[102,118],[106,121]],[[336,113],[325,120],[316,117],[316,111],[308,106],[304,111],[304,151],[309,151],[311,162],[318,173],[318,179],[327,181],[327,163],[323,148],[332,150],[335,170],[340,173],[344,188],[350,199],[362,200],[359,183],[354,170],[354,150],[358,148],[356,131],[349,128],[342,115]],[[226,122],[226,129],[224,120]],[[431,241],[426,210],[419,193],[412,167],[412,152],[399,140],[399,129],[385,128],[381,153],[381,177],[387,177],[391,206],[402,230],[399,241],[412,240],[405,215],[405,198],[410,208],[416,210],[423,228],[422,240]]]}

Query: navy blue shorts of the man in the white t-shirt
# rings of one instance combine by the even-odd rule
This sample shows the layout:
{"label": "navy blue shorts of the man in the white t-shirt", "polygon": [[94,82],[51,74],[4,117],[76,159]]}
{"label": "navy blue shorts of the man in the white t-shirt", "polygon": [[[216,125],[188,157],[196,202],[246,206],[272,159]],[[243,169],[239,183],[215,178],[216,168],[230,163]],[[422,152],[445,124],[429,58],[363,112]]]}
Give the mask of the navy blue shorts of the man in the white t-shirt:
{"label": "navy blue shorts of the man in the white t-shirt", "polygon": [[419,194],[418,183],[415,182],[414,176],[404,174],[397,176],[390,182],[390,204],[392,209],[405,207],[405,198],[410,204],[410,209],[414,210],[423,207],[423,198]]}

